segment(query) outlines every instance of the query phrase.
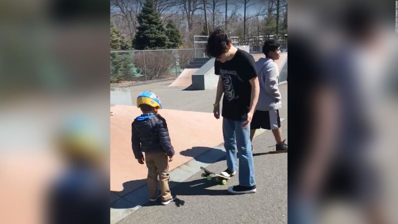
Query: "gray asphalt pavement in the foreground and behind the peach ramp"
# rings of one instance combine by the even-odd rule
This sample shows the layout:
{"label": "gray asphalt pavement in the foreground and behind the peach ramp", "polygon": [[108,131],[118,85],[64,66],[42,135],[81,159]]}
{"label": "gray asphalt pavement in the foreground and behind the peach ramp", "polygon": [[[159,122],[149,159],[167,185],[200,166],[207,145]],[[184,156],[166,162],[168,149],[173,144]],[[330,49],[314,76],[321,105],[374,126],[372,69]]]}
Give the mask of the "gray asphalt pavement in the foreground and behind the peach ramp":
{"label": "gray asphalt pavement in the foreground and behind the peach ramp", "polygon": [[[170,81],[135,86],[131,87],[130,91],[132,96],[144,90],[154,91],[160,96],[164,108],[212,112],[215,90],[184,91],[165,88],[168,83]],[[287,139],[287,84],[282,84],[279,88],[283,98],[283,108],[279,114],[281,118],[286,118],[281,122],[281,128],[283,137]],[[156,203],[144,204],[142,208],[117,223],[287,223],[287,153],[273,153],[275,147],[267,147],[275,145],[273,134],[269,130],[256,137],[252,144],[256,193],[228,193],[229,186],[238,185],[239,171],[226,185],[219,185],[214,179],[208,181],[201,177],[202,172],[198,172],[185,181],[172,185],[172,194],[177,195],[174,202],[166,206]],[[225,157],[209,165],[207,169],[224,171]]]}

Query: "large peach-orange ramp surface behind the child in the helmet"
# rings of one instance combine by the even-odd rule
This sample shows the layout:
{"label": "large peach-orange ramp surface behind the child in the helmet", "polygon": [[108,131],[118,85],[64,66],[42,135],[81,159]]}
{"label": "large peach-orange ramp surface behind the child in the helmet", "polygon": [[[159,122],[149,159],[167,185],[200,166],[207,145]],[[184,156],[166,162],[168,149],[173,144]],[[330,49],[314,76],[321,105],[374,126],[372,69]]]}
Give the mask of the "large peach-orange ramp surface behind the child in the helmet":
{"label": "large peach-orange ramp surface behind the child in the helmet", "polygon": [[[147,168],[135,159],[131,149],[131,122],[141,114],[135,106],[111,106],[110,130],[110,174],[111,191],[124,196],[146,184]],[[222,119],[216,120],[213,113],[191,112],[162,109],[159,113],[166,119],[174,151],[170,168],[175,169],[187,161],[207,151],[205,147],[214,147],[223,142]],[[190,150],[189,156],[181,151],[193,147],[203,149]],[[183,153],[184,154],[184,153]],[[123,183],[129,182],[123,187]]]}

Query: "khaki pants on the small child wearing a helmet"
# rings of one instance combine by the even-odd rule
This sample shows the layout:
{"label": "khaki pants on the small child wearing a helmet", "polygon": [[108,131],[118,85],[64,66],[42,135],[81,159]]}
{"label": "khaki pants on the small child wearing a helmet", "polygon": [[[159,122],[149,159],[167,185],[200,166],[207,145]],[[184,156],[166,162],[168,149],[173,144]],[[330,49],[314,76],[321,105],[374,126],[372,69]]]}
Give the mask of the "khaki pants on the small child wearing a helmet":
{"label": "khaki pants on the small child wearing a helmet", "polygon": [[146,167],[148,167],[148,190],[149,198],[156,198],[158,195],[158,176],[160,195],[162,200],[171,198],[169,189],[169,161],[166,153],[145,153]]}

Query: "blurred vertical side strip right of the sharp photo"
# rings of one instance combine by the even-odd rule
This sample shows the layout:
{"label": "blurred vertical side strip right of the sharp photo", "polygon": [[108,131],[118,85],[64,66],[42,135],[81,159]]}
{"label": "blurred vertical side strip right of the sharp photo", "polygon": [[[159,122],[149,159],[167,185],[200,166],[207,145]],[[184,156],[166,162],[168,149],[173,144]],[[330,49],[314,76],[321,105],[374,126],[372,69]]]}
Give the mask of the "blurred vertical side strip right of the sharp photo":
{"label": "blurred vertical side strip right of the sharp photo", "polygon": [[398,223],[395,7],[289,2],[289,224]]}

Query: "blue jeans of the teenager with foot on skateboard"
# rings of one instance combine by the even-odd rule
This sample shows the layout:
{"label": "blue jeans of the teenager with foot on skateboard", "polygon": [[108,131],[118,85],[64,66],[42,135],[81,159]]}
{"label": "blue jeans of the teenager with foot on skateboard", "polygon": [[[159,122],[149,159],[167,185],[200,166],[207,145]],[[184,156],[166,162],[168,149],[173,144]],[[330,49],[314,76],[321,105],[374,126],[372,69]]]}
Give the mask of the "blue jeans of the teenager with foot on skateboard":
{"label": "blue jeans of the teenager with foot on skateboard", "polygon": [[[226,165],[228,171],[236,170],[236,149],[239,153],[239,185],[252,187],[254,181],[254,164],[252,143],[250,142],[250,124],[247,128],[241,125],[246,121],[234,121],[222,118],[222,134],[224,135],[224,148],[226,150]],[[236,141],[236,143],[235,143]]]}

